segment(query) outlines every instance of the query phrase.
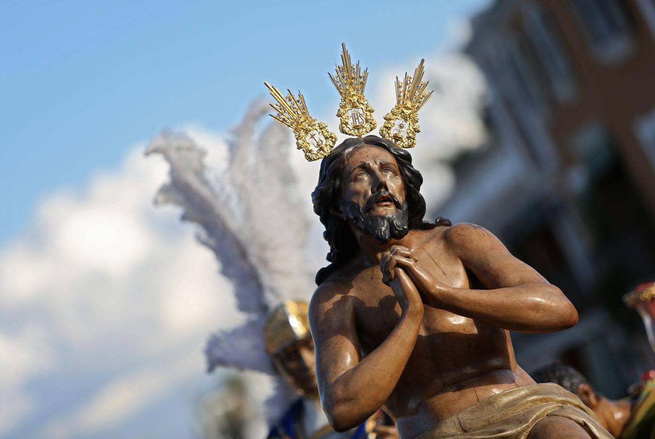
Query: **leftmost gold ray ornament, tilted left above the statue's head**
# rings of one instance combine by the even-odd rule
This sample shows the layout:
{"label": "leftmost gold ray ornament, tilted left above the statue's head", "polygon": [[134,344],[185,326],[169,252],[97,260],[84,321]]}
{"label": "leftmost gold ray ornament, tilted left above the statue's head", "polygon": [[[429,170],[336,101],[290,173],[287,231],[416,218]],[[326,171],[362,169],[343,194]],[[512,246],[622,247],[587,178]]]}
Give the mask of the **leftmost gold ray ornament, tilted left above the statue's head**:
{"label": "leftmost gold ray ornament, tilted left above the statue's head", "polygon": [[326,123],[309,115],[305,97],[301,92],[298,92],[298,97],[295,98],[291,90],[287,89],[289,94],[285,97],[275,86],[267,82],[264,84],[277,101],[276,104],[270,104],[277,114],[270,116],[293,130],[295,144],[298,149],[303,150],[305,159],[311,162],[328,155],[337,143],[337,136],[327,129]]}

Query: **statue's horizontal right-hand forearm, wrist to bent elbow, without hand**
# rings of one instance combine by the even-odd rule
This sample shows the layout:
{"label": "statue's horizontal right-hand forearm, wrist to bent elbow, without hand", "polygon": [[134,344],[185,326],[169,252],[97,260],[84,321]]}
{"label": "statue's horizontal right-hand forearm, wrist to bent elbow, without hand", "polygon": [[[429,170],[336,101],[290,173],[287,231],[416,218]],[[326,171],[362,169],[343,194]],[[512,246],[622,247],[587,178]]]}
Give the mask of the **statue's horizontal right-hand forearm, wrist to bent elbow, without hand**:
{"label": "statue's horizontal right-hand forearm, wrist to bent elbow, without hand", "polygon": [[495,290],[433,286],[430,305],[519,332],[551,332],[571,328],[578,313],[551,284],[534,283]]}

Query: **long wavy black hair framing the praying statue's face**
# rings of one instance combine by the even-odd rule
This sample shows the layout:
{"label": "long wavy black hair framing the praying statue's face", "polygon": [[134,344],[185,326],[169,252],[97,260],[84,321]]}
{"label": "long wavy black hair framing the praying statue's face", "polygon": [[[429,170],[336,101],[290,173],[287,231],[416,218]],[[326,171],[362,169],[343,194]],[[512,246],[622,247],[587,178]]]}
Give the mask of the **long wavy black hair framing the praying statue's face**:
{"label": "long wavy black hair framing the praying statue's face", "polygon": [[393,142],[378,136],[365,138],[349,138],[340,143],[329,155],[321,161],[321,170],[318,174],[318,184],[312,192],[314,213],[319,216],[326,228],[324,239],[329,244],[330,251],[327,261],[330,265],[316,273],[316,284],[320,285],[326,278],[337,271],[339,267],[352,258],[358,250],[358,244],[348,228],[345,219],[337,218],[330,213],[330,209],[339,208],[341,198],[341,178],[346,159],[352,151],[363,145],[381,147],[390,153],[396,162],[405,185],[405,202],[407,203],[409,229],[434,229],[440,225],[451,225],[445,218],[437,218],[434,222],[423,221],[425,215],[425,200],[419,192],[423,177],[411,164],[411,155],[407,149],[394,145]]}

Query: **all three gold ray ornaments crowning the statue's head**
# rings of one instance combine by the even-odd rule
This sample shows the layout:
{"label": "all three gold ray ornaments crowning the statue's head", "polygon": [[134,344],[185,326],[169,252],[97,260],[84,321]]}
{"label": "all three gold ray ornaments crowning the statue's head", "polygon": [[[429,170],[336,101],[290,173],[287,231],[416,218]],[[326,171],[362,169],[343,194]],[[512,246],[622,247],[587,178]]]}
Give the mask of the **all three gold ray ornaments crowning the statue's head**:
{"label": "all three gold ray ornaments crowning the statue's head", "polygon": [[[402,83],[396,77],[396,105],[384,116],[384,124],[380,135],[397,146],[411,148],[416,144],[416,134],[419,128],[419,109],[432,96],[428,92],[428,83],[423,82],[423,62],[414,71],[413,76],[405,73]],[[364,88],[368,79],[368,70],[360,68],[358,61],[354,66],[350,62],[350,54],[346,45],[341,45],[341,66],[336,66],[336,75],[327,73],[335,88],[341,95],[339,104],[339,131],[348,136],[362,137],[375,129],[373,107],[364,96]],[[271,115],[276,121],[288,126],[295,134],[298,149],[305,153],[305,159],[314,161],[325,157],[337,143],[337,136],[327,130],[327,124],[319,122],[309,115],[305,98],[298,92],[297,98],[288,90],[283,96],[280,90],[271,84],[264,83],[276,100],[271,107],[277,112]]]}

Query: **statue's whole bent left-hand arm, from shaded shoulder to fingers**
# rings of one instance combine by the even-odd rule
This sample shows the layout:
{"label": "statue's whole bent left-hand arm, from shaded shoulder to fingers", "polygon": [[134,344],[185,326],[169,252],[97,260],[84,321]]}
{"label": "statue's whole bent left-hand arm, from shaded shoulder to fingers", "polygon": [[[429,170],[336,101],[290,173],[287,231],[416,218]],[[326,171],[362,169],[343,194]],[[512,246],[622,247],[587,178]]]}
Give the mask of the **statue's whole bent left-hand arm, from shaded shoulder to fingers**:
{"label": "statue's whole bent left-hand arm, from shaded shoulder to fingers", "polygon": [[309,316],[316,379],[327,419],[339,432],[357,427],[381,408],[414,349],[423,316],[421,296],[401,269],[396,269],[390,286],[402,308],[400,320],[363,360],[355,326],[356,297],[330,284],[312,297]]}

